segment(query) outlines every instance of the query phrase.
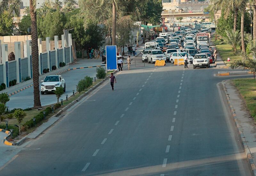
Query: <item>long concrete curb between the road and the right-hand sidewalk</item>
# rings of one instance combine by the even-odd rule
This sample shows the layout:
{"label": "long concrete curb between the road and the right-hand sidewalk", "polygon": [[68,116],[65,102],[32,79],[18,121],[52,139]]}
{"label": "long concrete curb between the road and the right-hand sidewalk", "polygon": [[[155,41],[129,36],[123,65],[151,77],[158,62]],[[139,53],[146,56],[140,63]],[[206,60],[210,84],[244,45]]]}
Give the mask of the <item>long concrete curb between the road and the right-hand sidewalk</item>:
{"label": "long concrete curb between the road and the right-hand sidewalk", "polygon": [[[221,82],[221,84],[223,85],[223,88],[226,89],[226,86],[225,86],[225,82],[228,81],[228,80],[224,80]],[[254,161],[252,159],[252,154],[251,154],[251,151],[246,143],[246,140],[245,140],[245,137],[244,137],[244,133],[242,131],[242,129],[240,128],[240,125],[239,125],[239,122],[237,120],[237,117],[236,117],[236,110],[233,108],[231,102],[230,102],[230,98],[229,98],[229,94],[224,90],[225,94],[226,94],[226,98],[227,98],[227,101],[228,101],[228,107],[229,107],[229,110],[230,112],[232,113],[233,115],[233,119],[234,119],[234,122],[236,124],[236,129],[239,133],[239,138],[240,138],[240,141],[241,141],[241,144],[244,148],[244,154],[246,155],[246,158],[247,158],[247,161],[250,165],[250,168],[252,170],[252,175],[253,176],[256,176],[256,165],[254,164]]]}

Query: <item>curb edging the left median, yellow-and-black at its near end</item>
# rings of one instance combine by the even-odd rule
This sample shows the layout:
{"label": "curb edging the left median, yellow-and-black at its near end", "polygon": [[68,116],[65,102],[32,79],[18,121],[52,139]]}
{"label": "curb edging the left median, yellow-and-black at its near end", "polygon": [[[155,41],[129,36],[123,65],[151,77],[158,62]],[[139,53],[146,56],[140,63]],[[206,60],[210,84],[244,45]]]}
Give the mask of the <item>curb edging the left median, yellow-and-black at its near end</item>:
{"label": "curb edging the left median, yellow-and-black at its near end", "polygon": [[[113,74],[115,74],[117,71],[114,71],[113,72]],[[65,111],[66,109],[68,109],[68,108],[70,108],[71,106],[73,106],[74,104],[76,104],[76,102],[78,102],[79,100],[81,100],[84,96],[86,96],[87,94],[89,94],[90,92],[92,92],[92,90],[94,90],[96,87],[98,87],[100,84],[102,84],[105,80],[107,80],[109,78],[109,75],[108,76],[106,76],[106,78],[104,78],[102,81],[100,81],[98,84],[96,84],[96,85],[94,85],[92,88],[90,88],[87,92],[85,92],[83,95],[81,95],[80,97],[78,97],[76,100],[74,100],[74,101],[72,101],[71,103],[69,103],[67,106],[65,106],[64,108],[62,108],[62,109],[60,109],[60,111],[58,111],[58,113],[57,114],[54,114],[52,117],[56,117],[57,115],[60,115],[63,111]],[[52,118],[52,117],[50,117],[50,118]],[[50,119],[49,118],[49,119]],[[59,118],[60,119],[60,118]],[[58,119],[58,120],[59,120]],[[56,120],[55,122],[53,122],[51,125],[49,125],[47,128],[45,128],[42,132],[44,132],[45,130],[47,130],[49,127],[51,127],[53,124],[55,124],[58,120]],[[0,129],[0,130],[2,130],[2,129]],[[5,130],[4,130],[5,131]],[[40,132],[40,134],[42,133],[42,132]],[[30,135],[31,133],[29,133],[28,135]],[[11,135],[11,132],[10,132],[10,134],[9,135]],[[6,145],[16,145],[16,146],[18,146],[18,145],[21,145],[23,142],[24,142],[24,140],[25,139],[27,139],[27,136],[28,135],[26,135],[25,137],[23,137],[22,139],[20,139],[19,141],[17,141],[16,143],[11,143],[11,142],[9,142],[9,141],[7,141],[6,139],[4,139],[5,141],[6,141]],[[8,136],[7,136],[8,137]],[[5,137],[5,138],[7,138],[7,137]],[[8,139],[8,138],[7,138]]]}

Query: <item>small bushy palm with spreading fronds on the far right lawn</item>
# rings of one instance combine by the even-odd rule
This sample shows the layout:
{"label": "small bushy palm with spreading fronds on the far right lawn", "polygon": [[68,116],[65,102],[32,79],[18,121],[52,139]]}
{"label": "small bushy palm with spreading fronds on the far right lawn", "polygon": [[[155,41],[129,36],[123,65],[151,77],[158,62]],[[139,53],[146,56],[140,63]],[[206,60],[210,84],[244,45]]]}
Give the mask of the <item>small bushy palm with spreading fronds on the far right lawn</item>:
{"label": "small bushy palm with spreading fronds on the far right lawn", "polygon": [[225,42],[232,45],[232,51],[236,53],[236,47],[241,44],[241,34],[240,32],[233,31],[233,30],[226,30],[225,31],[227,36],[225,37]]}

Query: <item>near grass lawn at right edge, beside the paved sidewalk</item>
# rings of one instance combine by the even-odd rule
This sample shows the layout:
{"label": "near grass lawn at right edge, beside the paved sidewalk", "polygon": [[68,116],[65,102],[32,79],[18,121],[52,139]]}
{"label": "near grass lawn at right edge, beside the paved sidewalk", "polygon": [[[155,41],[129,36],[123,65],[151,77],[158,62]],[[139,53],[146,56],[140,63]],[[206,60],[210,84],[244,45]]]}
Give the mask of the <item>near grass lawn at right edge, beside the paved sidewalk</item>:
{"label": "near grass lawn at right edge, beside the paved sidewalk", "polygon": [[256,79],[234,79],[232,82],[244,97],[246,107],[256,122]]}

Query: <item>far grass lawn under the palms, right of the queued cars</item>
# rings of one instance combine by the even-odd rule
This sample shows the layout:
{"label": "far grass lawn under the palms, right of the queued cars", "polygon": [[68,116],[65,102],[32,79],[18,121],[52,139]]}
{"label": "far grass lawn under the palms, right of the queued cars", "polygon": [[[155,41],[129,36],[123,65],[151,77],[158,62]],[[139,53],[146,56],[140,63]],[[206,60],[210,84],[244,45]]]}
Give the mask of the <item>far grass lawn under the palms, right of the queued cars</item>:
{"label": "far grass lawn under the palms, right of the queued cars", "polygon": [[[222,58],[222,60],[226,63],[226,65],[229,63],[227,60],[228,60],[228,57],[230,58],[230,61],[234,61],[234,60],[241,60],[241,57],[238,56],[238,55],[235,55],[233,52],[232,52],[232,46],[229,45],[229,44],[226,44],[226,43],[223,43],[223,44],[220,44],[221,41],[219,39],[217,39],[215,41],[215,34],[212,35],[212,41],[215,43],[216,47],[217,47],[217,50]],[[237,48],[239,49],[239,48]],[[229,65],[227,65],[229,66]]]}

